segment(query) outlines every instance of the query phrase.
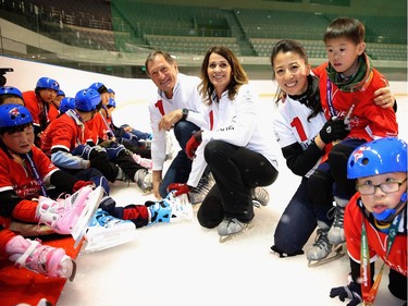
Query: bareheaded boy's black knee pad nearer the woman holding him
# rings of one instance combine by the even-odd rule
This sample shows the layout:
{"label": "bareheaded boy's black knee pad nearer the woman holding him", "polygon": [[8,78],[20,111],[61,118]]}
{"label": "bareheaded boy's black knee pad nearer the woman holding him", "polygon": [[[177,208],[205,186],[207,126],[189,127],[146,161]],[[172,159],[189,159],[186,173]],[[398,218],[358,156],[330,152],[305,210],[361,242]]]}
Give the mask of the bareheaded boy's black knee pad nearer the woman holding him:
{"label": "bareheaded boy's black knee pad nearer the woman holding him", "polygon": [[313,204],[332,205],[333,179],[327,173],[314,171],[309,178],[308,193]]}

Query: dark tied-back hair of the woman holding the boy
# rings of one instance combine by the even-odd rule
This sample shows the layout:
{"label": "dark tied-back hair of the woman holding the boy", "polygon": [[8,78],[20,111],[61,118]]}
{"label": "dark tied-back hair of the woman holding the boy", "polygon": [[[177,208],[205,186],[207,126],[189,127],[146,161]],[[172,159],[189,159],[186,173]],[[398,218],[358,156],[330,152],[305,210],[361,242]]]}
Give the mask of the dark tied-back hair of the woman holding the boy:
{"label": "dark tied-back hair of the woman holding the boy", "polygon": [[[305,47],[296,40],[293,39],[282,39],[275,44],[272,48],[270,61],[272,66],[272,79],[275,79],[275,71],[274,71],[274,60],[276,56],[280,53],[286,52],[294,52],[298,54],[304,61],[305,64],[308,64],[308,56],[306,53]],[[307,76],[308,87],[306,89],[305,96],[307,96],[307,107],[311,109],[311,113],[308,115],[308,121],[316,117],[321,110],[322,105],[320,101],[320,93],[319,93],[319,79],[311,75]],[[286,93],[282,90],[282,88],[277,87],[276,90],[276,100],[277,103],[280,100],[284,99]]]}

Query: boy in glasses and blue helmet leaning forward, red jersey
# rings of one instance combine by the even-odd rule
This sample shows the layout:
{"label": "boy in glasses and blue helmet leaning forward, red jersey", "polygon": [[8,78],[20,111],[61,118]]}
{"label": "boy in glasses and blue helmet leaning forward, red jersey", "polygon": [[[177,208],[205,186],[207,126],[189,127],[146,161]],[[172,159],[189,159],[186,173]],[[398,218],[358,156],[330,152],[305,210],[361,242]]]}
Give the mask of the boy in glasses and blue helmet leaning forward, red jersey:
{"label": "boy in glasses and blue helmet leaning forward, red jersey", "polygon": [[[358,191],[344,216],[350,282],[332,289],[330,296],[350,298],[350,306],[373,305],[387,265],[390,292],[407,301],[407,144],[395,137],[363,144],[353,151],[347,168]],[[373,282],[376,257],[383,266]]]}

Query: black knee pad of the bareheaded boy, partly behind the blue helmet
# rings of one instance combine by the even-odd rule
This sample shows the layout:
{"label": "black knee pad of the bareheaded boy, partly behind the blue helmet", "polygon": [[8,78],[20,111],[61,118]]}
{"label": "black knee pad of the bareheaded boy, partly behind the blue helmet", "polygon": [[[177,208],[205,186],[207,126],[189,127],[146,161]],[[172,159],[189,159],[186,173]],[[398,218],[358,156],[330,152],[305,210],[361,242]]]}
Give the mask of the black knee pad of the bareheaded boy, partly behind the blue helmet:
{"label": "black knee pad of the bareheaded boy, partly behind the blue helmet", "polygon": [[356,193],[356,180],[347,179],[347,161],[353,150],[350,147],[337,144],[329,154],[329,164],[336,188],[347,198]]}

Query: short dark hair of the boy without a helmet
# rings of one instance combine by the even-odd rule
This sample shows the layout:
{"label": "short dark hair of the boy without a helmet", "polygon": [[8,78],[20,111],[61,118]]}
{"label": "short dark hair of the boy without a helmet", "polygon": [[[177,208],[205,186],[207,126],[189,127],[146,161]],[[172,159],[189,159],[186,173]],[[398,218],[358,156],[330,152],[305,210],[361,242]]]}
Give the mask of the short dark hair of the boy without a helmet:
{"label": "short dark hair of the boy without a helmet", "polygon": [[364,36],[366,27],[359,20],[339,17],[330,23],[324,33],[323,41],[327,42],[329,39],[344,37],[358,45],[364,41]]}

